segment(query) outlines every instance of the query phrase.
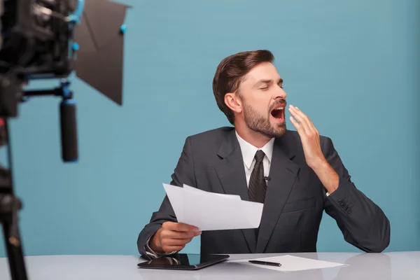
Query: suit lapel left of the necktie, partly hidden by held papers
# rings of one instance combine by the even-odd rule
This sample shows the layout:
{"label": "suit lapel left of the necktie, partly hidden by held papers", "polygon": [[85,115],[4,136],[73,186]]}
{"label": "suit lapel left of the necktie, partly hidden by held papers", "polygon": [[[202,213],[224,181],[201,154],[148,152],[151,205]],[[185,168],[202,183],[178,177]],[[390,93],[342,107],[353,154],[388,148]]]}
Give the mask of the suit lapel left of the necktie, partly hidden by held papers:
{"label": "suit lapel left of the necktie, partly hidden by held papers", "polygon": [[[239,195],[241,200],[249,201],[244,160],[235,130],[229,132],[228,137],[223,141],[218,151],[218,156],[221,160],[214,165],[214,169],[225,193],[228,195]],[[249,250],[253,253],[256,246],[255,230],[245,229],[241,230],[241,232],[248,243]]]}

